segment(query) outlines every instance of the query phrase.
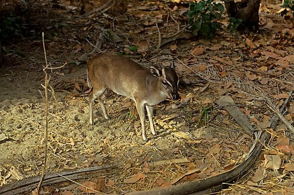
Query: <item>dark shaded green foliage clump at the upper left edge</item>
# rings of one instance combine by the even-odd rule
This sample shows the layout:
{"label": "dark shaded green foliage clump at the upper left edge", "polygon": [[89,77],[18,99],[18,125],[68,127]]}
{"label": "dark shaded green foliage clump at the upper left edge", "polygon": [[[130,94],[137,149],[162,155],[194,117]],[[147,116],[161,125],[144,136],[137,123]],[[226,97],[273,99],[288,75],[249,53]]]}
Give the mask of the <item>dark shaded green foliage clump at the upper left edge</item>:
{"label": "dark shaded green foliage clump at the upper left edge", "polygon": [[17,16],[11,15],[8,16],[0,24],[0,39],[7,40],[13,37],[22,36],[23,25],[21,20]]}

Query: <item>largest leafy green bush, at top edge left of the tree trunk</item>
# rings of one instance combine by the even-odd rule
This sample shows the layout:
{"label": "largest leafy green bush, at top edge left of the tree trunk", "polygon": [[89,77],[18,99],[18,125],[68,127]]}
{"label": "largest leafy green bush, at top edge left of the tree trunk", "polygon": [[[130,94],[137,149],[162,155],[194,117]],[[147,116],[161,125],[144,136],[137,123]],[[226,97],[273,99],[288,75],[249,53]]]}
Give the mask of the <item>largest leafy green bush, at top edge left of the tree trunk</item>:
{"label": "largest leafy green bush, at top edge left of the tree trunk", "polygon": [[221,24],[216,20],[221,18],[223,11],[223,5],[216,0],[191,2],[188,18],[189,24],[192,24],[190,29],[193,34],[197,36],[200,33],[205,38],[211,38],[221,28]]}

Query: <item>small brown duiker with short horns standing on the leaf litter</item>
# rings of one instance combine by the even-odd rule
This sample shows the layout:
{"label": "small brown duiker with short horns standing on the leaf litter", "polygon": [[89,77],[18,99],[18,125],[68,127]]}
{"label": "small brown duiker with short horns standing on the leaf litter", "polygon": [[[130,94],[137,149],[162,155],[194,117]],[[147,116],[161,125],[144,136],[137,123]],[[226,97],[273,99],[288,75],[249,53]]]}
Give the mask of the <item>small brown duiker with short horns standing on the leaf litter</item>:
{"label": "small brown duiker with short horns standing on the leaf litter", "polygon": [[87,82],[93,90],[89,96],[90,124],[93,121],[93,102],[98,97],[105,119],[109,119],[103,102],[107,89],[129,97],[136,103],[142,125],[143,140],[147,142],[145,131],[145,107],[153,135],[153,106],[167,97],[178,99],[179,79],[174,64],[158,70],[144,68],[127,57],[101,53],[87,64]]}

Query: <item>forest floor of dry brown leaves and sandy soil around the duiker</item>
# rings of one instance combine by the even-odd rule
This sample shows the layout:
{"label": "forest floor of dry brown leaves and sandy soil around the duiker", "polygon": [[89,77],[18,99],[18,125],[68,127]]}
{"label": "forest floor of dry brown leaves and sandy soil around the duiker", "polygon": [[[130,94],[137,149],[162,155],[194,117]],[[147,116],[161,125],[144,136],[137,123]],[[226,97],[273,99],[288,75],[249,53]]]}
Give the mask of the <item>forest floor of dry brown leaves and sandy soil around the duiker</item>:
{"label": "forest floor of dry brown leaves and sandy soil around the duiker", "polygon": [[[270,132],[271,139],[251,171],[220,194],[294,192],[294,137],[281,121],[270,129],[274,113],[265,104],[265,95],[276,106],[289,98],[283,115],[293,124],[294,99],[289,94],[294,90],[294,22],[277,13],[280,4],[262,1],[256,33],[230,34],[224,13],[223,29],[206,40],[187,32],[187,3],[118,1],[107,11],[87,15],[104,1],[98,2],[86,3],[86,16],[65,0],[34,1],[29,8],[25,1],[5,4],[7,10],[18,9],[13,3],[29,9],[28,26],[34,28],[31,36],[1,45],[0,187],[42,170],[46,126],[41,86],[45,80],[43,30],[50,65],[67,62],[61,69],[47,71],[55,92],[54,96],[49,92],[47,172],[120,164],[120,172],[78,182],[121,195],[231,170],[244,160],[254,138],[216,103],[221,96],[230,96],[253,128]],[[162,46],[157,50],[159,31]],[[151,135],[147,122],[148,143],[142,139],[134,102],[126,97],[105,99],[110,120],[102,117],[96,102],[97,124],[89,124],[86,61],[98,51],[83,54],[94,49],[100,35],[102,52],[130,54],[144,66],[159,62],[168,66],[174,60],[181,78],[181,100],[154,106],[157,136]],[[138,51],[132,51],[132,46]],[[71,184],[59,183],[43,191],[86,192]]]}

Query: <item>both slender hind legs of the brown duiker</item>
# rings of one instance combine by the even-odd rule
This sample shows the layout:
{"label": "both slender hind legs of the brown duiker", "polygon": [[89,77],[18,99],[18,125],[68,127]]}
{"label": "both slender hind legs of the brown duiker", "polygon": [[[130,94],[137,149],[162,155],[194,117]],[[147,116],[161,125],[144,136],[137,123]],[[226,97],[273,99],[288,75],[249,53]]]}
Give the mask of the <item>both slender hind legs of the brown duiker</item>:
{"label": "both slender hind legs of the brown duiker", "polygon": [[103,95],[104,91],[106,90],[106,87],[99,89],[99,90],[95,90],[93,88],[93,91],[91,92],[90,96],[89,96],[89,105],[90,105],[90,124],[94,125],[94,120],[93,120],[93,103],[94,100],[99,97],[99,102],[101,105],[101,109],[104,115],[105,119],[108,119],[108,115],[106,113],[106,108],[105,105],[103,103],[103,99],[105,98],[105,96]]}

